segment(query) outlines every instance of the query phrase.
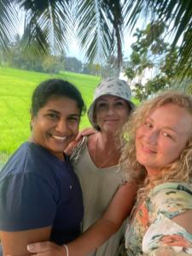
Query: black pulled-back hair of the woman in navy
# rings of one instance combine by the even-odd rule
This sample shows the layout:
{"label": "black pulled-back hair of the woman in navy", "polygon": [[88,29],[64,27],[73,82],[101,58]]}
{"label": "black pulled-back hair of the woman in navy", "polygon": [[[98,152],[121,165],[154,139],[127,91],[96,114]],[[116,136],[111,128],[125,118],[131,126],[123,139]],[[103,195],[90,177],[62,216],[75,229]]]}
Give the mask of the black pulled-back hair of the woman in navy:
{"label": "black pulled-back hair of the woman in navy", "polygon": [[50,98],[66,96],[77,102],[80,114],[82,115],[86,111],[84,100],[80,91],[71,83],[62,79],[48,79],[38,84],[38,87],[32,94],[32,108],[31,113],[36,116],[38,110],[43,108]]}

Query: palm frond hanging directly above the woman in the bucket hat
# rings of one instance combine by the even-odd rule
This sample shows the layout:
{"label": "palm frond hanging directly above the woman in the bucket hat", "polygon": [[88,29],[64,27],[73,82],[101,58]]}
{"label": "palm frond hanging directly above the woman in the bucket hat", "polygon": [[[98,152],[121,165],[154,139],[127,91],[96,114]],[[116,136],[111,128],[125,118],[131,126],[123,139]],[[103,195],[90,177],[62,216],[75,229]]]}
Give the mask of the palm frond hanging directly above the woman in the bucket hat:
{"label": "palm frond hanging directly above the woman in the bucket hat", "polygon": [[118,56],[122,61],[122,7],[119,1],[79,0],[78,35],[90,61]]}

